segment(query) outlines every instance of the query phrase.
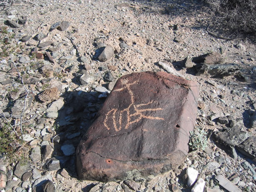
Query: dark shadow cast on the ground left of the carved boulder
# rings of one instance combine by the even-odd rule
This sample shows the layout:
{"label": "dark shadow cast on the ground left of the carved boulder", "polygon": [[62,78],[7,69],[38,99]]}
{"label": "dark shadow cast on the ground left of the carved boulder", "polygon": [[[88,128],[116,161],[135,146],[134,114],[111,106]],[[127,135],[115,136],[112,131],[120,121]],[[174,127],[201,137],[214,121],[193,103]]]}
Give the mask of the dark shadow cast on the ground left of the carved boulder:
{"label": "dark shadow cast on the ground left of the carved boulder", "polygon": [[51,138],[54,150],[51,158],[45,162],[46,170],[59,170],[60,173],[65,168],[70,177],[78,178],[75,149],[105,101],[99,99],[98,95],[94,91],[73,91],[62,95],[65,105],[58,111],[58,118],[54,122],[56,134]]}

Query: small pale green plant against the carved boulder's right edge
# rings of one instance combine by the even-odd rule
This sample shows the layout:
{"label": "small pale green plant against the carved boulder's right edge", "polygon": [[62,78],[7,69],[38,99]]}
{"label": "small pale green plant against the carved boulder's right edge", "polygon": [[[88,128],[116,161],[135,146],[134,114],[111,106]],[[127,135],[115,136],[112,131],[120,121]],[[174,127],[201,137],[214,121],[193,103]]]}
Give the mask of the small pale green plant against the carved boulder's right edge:
{"label": "small pale green plant against the carved boulder's right edge", "polygon": [[207,133],[195,127],[194,131],[190,131],[189,147],[191,150],[204,150],[207,147]]}

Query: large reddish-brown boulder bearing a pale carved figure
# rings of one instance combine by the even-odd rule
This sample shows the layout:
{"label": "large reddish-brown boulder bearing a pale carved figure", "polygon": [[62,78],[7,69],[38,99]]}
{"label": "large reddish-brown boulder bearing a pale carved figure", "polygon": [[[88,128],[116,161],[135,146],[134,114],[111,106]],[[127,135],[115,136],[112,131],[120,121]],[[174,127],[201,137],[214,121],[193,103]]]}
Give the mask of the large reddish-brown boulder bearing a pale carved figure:
{"label": "large reddish-brown boulder bearing a pale carved figure", "polygon": [[121,77],[77,147],[79,179],[129,180],[180,165],[197,100],[196,82],[166,72]]}

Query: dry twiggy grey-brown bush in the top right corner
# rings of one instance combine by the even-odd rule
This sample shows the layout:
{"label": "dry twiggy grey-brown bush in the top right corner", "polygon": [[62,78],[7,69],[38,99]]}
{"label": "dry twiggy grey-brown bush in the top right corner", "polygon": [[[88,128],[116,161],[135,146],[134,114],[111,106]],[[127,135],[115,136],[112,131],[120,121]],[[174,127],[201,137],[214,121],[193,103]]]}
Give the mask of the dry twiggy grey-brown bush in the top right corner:
{"label": "dry twiggy grey-brown bush in the top right corner", "polygon": [[230,30],[256,35],[255,0],[205,0],[215,21]]}

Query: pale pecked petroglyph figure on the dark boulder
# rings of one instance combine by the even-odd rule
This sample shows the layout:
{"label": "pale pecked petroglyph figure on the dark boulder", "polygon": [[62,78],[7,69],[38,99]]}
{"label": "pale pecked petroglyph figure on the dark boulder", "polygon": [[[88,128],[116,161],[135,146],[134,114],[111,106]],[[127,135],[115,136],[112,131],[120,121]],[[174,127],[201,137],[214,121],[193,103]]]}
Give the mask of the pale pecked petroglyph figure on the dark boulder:
{"label": "pale pecked petroglyph figure on the dark boulder", "polygon": [[[107,113],[103,123],[108,130],[110,130],[110,127],[107,125],[108,120],[113,121],[113,126],[115,128],[115,131],[120,131],[122,128],[128,129],[128,127],[130,125],[132,125],[133,123],[137,123],[142,119],[164,120],[161,117],[153,117],[153,116],[147,116],[147,115],[143,114],[143,112],[163,110],[163,108],[149,108],[149,107],[145,108],[144,107],[144,106],[148,106],[148,105],[154,103],[154,101],[150,101],[147,103],[141,103],[141,104],[134,103],[134,95],[133,95],[133,91],[131,90],[131,86],[138,83],[138,81],[128,83],[128,80],[121,79],[121,83],[123,85],[123,88],[120,88],[120,89],[117,89],[114,91],[121,92],[124,90],[128,90],[128,94],[131,99],[131,104],[128,107],[126,107],[125,109],[120,110],[119,117],[118,117],[118,113],[117,113],[118,109],[116,109],[116,108],[111,109]],[[126,123],[123,123],[124,118],[127,119]]]}

